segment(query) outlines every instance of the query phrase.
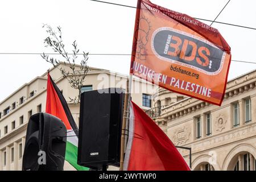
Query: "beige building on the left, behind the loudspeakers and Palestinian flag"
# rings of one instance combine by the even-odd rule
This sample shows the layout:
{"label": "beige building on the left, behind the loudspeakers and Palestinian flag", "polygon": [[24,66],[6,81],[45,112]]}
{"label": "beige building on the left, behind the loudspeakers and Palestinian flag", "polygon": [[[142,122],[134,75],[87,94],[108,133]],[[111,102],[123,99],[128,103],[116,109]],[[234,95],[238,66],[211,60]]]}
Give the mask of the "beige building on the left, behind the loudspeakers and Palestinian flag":
{"label": "beige building on the left, behind the loudspeakers and Palestinian flag", "polygon": [[[79,91],[72,89],[67,79],[61,76],[59,68],[68,69],[63,63],[50,69],[50,75],[63,92],[69,109],[79,126],[80,105],[74,104],[69,97],[75,98]],[[79,65],[77,65],[79,70]],[[79,74],[79,72],[77,72]],[[82,92],[103,88],[126,88],[127,76],[104,69],[90,68],[85,77]],[[26,129],[31,115],[44,112],[46,108],[47,73],[21,86],[13,94],[0,102],[0,171],[22,169],[22,156],[26,141]],[[151,95],[155,86],[134,78],[131,97],[142,109],[151,108]],[[65,163],[64,169],[73,169]]]}

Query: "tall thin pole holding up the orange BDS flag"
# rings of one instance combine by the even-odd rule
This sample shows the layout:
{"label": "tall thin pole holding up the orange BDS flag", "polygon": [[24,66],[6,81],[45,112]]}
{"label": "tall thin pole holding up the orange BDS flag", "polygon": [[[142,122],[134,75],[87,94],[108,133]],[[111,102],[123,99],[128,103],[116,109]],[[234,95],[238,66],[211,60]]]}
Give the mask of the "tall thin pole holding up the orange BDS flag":
{"label": "tall thin pole holding up the orange BDS flag", "polygon": [[141,0],[137,1],[137,9],[135,16],[135,24],[134,24],[134,36],[133,36],[133,47],[131,52],[131,64],[130,64],[130,75],[129,80],[126,82],[126,93],[125,93],[125,103],[124,103],[124,111],[123,111],[123,120],[122,120],[122,136],[121,136],[121,148],[120,148],[120,171],[123,171],[123,161],[125,154],[125,139],[126,134],[128,134],[126,129],[126,123],[129,122],[129,110],[130,110],[130,101],[131,101],[131,84],[133,82],[133,63],[135,61],[136,47],[137,45],[137,36],[138,36],[138,24],[139,24],[139,16],[141,13]]}

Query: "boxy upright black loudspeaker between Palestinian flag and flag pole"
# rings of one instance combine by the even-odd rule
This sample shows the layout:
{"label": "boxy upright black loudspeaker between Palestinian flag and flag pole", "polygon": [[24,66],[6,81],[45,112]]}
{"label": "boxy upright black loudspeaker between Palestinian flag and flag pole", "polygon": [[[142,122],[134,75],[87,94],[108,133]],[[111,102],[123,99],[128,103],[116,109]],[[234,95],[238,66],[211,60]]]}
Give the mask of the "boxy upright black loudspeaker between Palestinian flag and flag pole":
{"label": "boxy upright black loudspeaker between Palestinian flag and flag pole", "polygon": [[120,165],[124,91],[119,88],[81,94],[77,163],[92,169]]}

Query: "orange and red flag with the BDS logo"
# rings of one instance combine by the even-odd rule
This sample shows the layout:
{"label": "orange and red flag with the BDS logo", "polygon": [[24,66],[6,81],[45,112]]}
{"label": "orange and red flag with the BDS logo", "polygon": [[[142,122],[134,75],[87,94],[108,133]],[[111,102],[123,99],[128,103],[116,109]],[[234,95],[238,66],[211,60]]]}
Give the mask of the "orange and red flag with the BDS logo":
{"label": "orange and red flag with the BDS logo", "polygon": [[230,60],[230,47],[216,28],[148,0],[138,1],[131,74],[221,105]]}

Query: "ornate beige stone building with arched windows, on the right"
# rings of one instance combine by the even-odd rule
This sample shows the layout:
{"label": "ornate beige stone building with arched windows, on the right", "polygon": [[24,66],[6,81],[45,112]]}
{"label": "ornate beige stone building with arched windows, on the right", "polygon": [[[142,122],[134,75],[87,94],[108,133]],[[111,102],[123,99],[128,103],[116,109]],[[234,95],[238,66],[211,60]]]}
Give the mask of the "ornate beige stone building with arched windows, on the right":
{"label": "ornate beige stone building with arched windows, on the right", "polygon": [[[255,85],[256,71],[230,80],[221,106],[195,98],[169,104],[171,92],[162,89],[153,96],[156,107],[150,110],[158,114],[151,117],[176,146],[191,147],[193,170],[254,171]],[[179,151],[189,164],[189,151]]]}

